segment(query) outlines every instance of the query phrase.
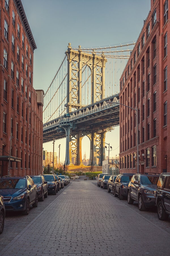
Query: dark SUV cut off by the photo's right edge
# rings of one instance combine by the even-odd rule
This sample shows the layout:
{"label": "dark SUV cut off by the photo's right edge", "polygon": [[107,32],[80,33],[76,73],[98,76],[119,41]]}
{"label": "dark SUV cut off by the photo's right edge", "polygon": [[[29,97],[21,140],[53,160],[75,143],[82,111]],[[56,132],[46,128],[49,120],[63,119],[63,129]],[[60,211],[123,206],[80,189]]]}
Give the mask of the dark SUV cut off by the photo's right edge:
{"label": "dark SUV cut off by the photo's right edge", "polygon": [[162,173],[156,189],[156,205],[159,220],[167,220],[170,215],[170,172]]}

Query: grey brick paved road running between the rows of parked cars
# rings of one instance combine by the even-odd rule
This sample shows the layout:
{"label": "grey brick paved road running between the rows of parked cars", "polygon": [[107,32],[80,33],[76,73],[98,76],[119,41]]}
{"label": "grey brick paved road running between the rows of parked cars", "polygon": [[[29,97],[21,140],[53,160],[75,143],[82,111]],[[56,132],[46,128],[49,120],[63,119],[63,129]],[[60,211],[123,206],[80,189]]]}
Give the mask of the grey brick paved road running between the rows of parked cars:
{"label": "grey brick paved road running between the rows of parked cars", "polygon": [[167,256],[170,218],[156,218],[155,211],[139,212],[96,181],[72,181],[0,255]]}

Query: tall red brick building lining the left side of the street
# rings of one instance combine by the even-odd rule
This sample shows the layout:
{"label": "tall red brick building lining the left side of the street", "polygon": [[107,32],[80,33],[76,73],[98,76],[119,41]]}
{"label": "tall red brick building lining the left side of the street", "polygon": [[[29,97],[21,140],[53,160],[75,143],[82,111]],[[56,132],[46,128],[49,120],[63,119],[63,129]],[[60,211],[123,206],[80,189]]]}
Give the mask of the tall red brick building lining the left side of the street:
{"label": "tall red brick building lining the left side of the street", "polygon": [[21,1],[0,1],[0,176],[42,170],[44,92],[33,88],[36,48]]}

